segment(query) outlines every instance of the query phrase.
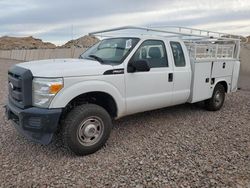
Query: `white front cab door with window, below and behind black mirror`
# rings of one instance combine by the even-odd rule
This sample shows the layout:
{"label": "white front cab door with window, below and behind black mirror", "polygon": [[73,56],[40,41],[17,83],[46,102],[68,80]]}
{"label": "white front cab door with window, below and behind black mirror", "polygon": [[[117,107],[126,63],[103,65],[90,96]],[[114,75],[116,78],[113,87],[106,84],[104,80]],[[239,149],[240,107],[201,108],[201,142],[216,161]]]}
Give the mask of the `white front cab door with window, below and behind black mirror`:
{"label": "white front cab door with window, below and behind black mirror", "polygon": [[129,73],[125,68],[127,114],[162,108],[172,104],[173,67],[169,49],[161,40],[145,40],[133,54],[133,61],[147,60],[148,72]]}

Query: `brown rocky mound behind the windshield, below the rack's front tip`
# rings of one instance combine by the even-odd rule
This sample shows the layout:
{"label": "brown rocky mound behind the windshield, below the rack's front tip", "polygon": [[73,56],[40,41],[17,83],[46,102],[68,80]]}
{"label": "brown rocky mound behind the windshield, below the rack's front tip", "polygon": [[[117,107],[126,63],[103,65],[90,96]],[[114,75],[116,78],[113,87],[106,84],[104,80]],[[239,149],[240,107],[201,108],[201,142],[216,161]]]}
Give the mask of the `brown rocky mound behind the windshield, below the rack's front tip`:
{"label": "brown rocky mound behind the windshield, below the rack's front tip", "polygon": [[66,44],[60,46],[60,48],[71,48],[71,47],[87,48],[87,47],[94,45],[95,43],[99,41],[100,40],[96,37],[86,35],[76,40],[71,40],[67,42]]}

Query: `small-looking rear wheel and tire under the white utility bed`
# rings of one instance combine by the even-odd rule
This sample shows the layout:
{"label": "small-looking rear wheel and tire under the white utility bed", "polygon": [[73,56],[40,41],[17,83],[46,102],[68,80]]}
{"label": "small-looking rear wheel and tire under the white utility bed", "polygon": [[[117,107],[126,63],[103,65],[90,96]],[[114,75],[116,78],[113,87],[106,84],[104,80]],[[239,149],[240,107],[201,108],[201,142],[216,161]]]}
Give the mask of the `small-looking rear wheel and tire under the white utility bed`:
{"label": "small-looking rear wheel and tire under the white utility bed", "polygon": [[205,107],[209,111],[220,110],[225,100],[225,89],[223,85],[217,84],[210,99],[205,100]]}

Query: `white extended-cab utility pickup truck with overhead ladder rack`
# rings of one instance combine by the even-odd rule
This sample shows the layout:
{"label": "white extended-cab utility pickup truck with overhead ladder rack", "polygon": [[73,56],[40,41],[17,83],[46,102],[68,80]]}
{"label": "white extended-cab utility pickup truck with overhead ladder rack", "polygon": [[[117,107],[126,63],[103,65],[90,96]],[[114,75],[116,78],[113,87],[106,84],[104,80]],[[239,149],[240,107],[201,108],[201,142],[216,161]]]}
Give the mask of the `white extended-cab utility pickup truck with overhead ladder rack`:
{"label": "white extended-cab utility pickup truck with overhead ladder rack", "polygon": [[[136,32],[115,34],[125,30]],[[91,154],[107,141],[112,119],[199,101],[216,111],[237,90],[240,37],[181,27],[92,35],[104,39],[79,59],[9,69],[6,115],[23,135],[49,144],[60,131],[75,154]]]}

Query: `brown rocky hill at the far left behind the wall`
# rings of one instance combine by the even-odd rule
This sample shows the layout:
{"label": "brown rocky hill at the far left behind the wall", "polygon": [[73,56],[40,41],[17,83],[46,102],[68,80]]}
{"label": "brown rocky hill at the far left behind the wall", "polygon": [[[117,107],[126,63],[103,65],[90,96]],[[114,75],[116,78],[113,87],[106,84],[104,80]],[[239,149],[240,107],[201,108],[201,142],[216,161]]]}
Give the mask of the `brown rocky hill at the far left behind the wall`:
{"label": "brown rocky hill at the far left behind the wall", "polygon": [[0,37],[0,50],[14,49],[51,49],[56,45],[50,42],[43,42],[41,39],[30,37]]}

